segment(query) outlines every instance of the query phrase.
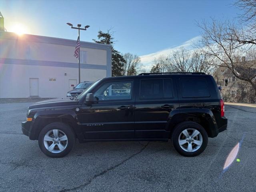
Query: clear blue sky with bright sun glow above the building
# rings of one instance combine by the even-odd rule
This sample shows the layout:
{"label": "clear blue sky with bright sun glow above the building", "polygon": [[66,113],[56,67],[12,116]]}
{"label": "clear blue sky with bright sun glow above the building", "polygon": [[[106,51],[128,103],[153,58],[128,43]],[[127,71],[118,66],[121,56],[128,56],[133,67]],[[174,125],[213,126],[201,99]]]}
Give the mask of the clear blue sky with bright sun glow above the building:
{"label": "clear blue sky with bright sun glow above the building", "polygon": [[114,48],[141,56],[152,64],[159,54],[180,46],[191,47],[200,39],[196,22],[234,19],[240,10],[234,0],[0,0],[5,28],[28,34],[77,39],[74,26],[90,25],[80,32],[80,40],[93,42],[99,30],[112,28]]}

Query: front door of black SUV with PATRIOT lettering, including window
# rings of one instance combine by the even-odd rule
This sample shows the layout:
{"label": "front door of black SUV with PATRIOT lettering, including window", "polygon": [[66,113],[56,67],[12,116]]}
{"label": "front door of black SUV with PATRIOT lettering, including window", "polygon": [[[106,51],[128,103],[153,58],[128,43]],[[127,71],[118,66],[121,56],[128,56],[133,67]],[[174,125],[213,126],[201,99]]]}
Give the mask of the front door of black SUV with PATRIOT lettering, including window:
{"label": "front door of black SUV with PATRIOT lettering, including window", "polygon": [[105,82],[94,93],[93,104],[82,104],[81,127],[86,140],[133,139],[133,81]]}

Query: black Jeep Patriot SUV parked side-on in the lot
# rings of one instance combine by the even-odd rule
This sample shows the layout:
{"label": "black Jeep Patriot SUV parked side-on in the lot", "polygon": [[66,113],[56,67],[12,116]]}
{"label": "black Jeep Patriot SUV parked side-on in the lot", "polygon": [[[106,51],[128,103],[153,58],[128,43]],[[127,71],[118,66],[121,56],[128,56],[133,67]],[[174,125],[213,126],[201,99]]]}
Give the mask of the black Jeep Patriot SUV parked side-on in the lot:
{"label": "black Jeep Patriot SUV parked side-on in the lot", "polygon": [[204,73],[144,73],[98,80],[79,96],[28,107],[23,134],[50,157],[68,154],[76,141],[172,141],[196,156],[208,137],[226,130],[224,102]]}

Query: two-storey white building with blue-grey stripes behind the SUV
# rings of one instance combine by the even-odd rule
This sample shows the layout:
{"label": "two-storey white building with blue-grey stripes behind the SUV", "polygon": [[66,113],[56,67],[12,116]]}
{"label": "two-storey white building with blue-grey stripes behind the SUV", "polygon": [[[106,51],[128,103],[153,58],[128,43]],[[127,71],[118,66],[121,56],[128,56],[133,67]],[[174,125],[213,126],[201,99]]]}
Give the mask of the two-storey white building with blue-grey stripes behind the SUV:
{"label": "two-storey white building with blue-grey stripes behind the SUV", "polygon": [[[0,98],[66,97],[78,84],[76,40],[0,32]],[[80,42],[81,82],[111,76],[111,46]]]}

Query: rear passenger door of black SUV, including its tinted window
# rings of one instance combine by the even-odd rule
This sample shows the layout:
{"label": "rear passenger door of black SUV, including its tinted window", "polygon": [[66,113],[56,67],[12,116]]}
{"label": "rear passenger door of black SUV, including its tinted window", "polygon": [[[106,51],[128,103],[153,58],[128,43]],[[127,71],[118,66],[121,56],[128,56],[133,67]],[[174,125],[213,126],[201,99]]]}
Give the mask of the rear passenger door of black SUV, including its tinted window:
{"label": "rear passenger door of black SUV, including its tinted window", "polygon": [[168,138],[168,116],[172,110],[179,108],[174,77],[141,78],[138,84],[134,117],[135,138]]}

